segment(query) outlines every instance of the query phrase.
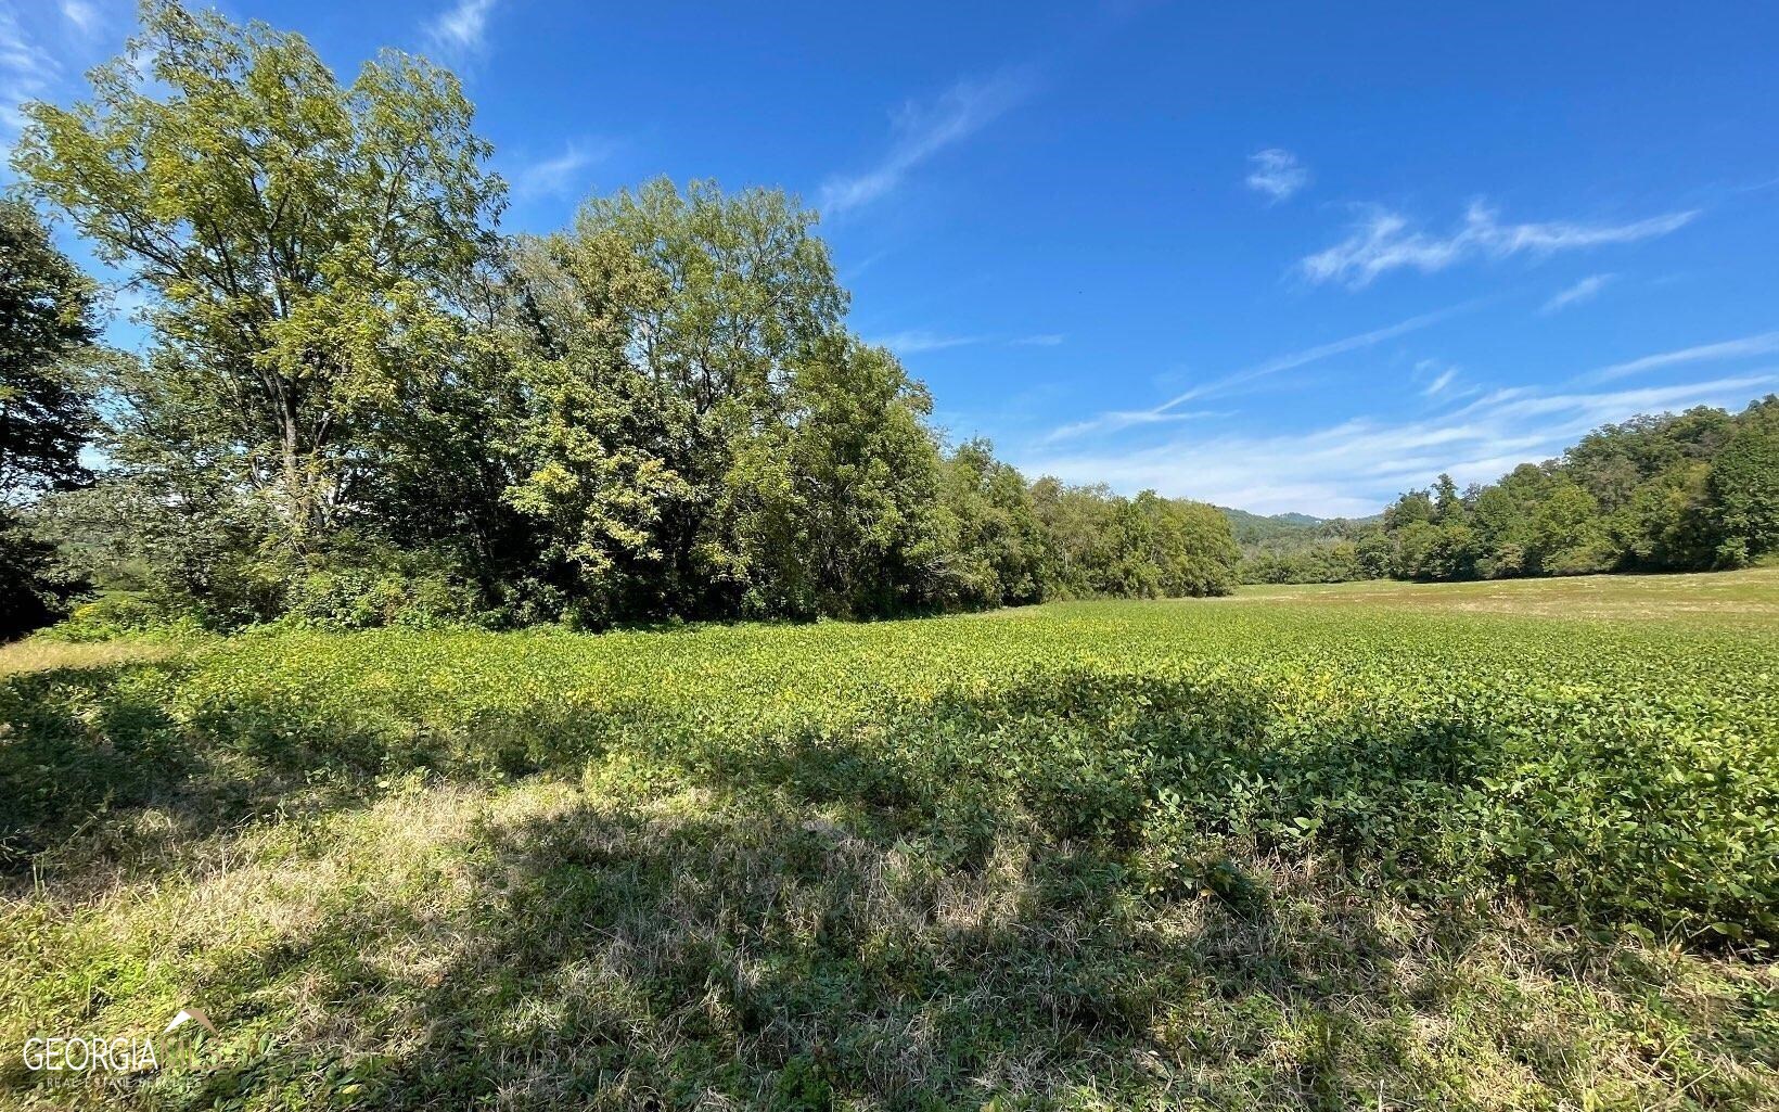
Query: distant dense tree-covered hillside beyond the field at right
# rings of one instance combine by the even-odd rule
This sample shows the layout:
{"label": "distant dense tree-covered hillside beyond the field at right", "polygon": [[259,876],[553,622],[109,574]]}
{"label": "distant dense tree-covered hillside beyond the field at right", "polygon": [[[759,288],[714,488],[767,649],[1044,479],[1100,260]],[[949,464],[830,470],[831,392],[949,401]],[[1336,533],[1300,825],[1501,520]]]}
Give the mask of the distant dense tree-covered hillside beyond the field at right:
{"label": "distant dense tree-covered hillside beyond the field at right", "polygon": [[1589,432],[1560,459],[1459,491],[1441,475],[1377,520],[1245,553],[1249,582],[1708,571],[1779,557],[1779,397]]}

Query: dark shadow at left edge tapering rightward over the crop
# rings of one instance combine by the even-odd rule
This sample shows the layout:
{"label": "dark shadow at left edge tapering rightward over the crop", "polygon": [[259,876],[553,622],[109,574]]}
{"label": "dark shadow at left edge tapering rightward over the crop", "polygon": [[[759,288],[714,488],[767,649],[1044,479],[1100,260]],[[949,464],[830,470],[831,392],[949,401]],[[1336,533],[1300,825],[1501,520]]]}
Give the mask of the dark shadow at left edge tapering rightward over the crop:
{"label": "dark shadow at left edge tapering rightward over the crop", "polygon": [[0,879],[151,875],[254,820],[322,817],[420,774],[500,781],[573,763],[619,719],[482,715],[450,729],[329,719],[253,692],[181,706],[190,662],[0,676]]}

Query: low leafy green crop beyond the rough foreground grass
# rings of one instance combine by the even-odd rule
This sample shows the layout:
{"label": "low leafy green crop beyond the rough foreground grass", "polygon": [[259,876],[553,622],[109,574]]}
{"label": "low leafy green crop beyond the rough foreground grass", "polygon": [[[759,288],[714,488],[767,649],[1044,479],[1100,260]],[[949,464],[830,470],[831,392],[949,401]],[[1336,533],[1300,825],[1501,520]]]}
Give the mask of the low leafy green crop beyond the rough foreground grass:
{"label": "low leafy green crop beyond the rough foreground grass", "polygon": [[[863,806],[1235,834],[1566,922],[1779,939],[1779,649],[1710,628],[1071,605],[681,635],[283,633],[16,680],[21,833],[196,776],[518,774],[623,749]],[[98,680],[98,683],[94,683]],[[91,749],[103,737],[110,760]],[[41,760],[37,769],[20,760]],[[34,776],[52,767],[53,776]],[[18,813],[12,813],[18,811]]]}

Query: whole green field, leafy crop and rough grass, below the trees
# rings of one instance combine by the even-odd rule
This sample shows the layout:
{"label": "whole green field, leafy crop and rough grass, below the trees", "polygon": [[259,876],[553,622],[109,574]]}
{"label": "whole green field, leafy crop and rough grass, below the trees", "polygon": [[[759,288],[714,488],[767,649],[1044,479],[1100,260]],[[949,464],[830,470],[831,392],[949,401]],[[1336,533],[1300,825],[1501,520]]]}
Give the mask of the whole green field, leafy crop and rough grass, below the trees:
{"label": "whole green field, leafy crop and rough grass, below the trees", "polygon": [[1779,573],[0,653],[0,1043],[171,1108],[1779,1107]]}

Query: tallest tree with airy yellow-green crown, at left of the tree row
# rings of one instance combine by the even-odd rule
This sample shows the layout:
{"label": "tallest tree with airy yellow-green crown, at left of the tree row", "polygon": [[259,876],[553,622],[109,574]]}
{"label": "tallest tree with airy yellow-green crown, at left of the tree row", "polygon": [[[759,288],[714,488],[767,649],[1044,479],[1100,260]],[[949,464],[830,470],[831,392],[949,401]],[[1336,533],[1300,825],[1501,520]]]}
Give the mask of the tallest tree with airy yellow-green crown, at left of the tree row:
{"label": "tallest tree with airy yellow-green crown, at left of the tree row", "polygon": [[384,53],[342,85],[295,34],[174,0],[71,109],[27,105],[25,189],[153,292],[116,455],[267,505],[324,548],[468,347],[454,308],[503,197],[457,80]]}

